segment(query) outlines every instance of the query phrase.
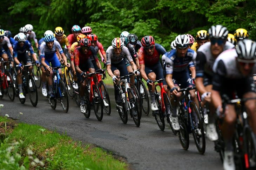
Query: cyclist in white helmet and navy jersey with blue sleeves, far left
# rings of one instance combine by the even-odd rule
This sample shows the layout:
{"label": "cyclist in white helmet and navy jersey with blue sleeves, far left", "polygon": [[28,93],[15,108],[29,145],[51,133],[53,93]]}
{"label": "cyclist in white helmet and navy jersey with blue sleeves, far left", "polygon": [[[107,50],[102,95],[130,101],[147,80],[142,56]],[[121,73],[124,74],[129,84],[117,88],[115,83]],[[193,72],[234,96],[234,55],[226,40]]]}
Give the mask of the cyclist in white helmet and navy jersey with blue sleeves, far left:
{"label": "cyclist in white helmet and navy jersey with blue sleeves, far left", "polygon": [[[23,62],[23,64],[31,64],[31,58],[28,56],[27,53],[27,49],[29,49],[30,54],[32,55],[33,59],[35,60],[36,64],[39,66],[39,61],[36,58],[36,55],[32,49],[31,44],[29,43],[28,40],[26,40],[26,35],[22,32],[20,32],[17,35],[17,40],[18,42],[16,42],[13,46],[13,58],[14,58],[14,62],[16,65],[16,70],[17,70],[17,82],[18,82],[18,88],[19,88],[19,98],[25,98],[25,96],[22,93],[22,69],[23,66],[21,64],[21,62]],[[29,66],[28,67],[29,72],[32,72],[33,67]]]}

